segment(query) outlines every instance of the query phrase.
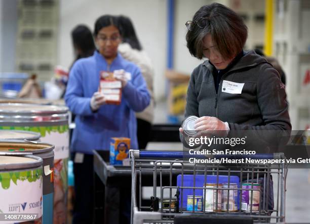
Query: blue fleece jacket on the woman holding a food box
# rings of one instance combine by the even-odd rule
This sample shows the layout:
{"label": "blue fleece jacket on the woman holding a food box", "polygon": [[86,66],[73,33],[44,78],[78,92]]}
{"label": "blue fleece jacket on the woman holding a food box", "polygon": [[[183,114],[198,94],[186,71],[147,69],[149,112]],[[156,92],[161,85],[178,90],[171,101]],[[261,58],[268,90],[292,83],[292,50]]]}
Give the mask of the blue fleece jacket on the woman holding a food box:
{"label": "blue fleece jacket on the woman holding a food box", "polygon": [[[96,113],[90,107],[94,92],[98,91],[100,71],[124,69],[132,79],[122,89],[120,105],[102,105]],[[92,154],[92,150],[109,150],[111,137],[131,138],[131,148],[138,149],[135,112],[149,104],[150,96],[139,68],[118,53],[108,65],[104,57],[94,55],[80,59],[73,65],[65,93],[65,101],[75,117],[71,151]]]}

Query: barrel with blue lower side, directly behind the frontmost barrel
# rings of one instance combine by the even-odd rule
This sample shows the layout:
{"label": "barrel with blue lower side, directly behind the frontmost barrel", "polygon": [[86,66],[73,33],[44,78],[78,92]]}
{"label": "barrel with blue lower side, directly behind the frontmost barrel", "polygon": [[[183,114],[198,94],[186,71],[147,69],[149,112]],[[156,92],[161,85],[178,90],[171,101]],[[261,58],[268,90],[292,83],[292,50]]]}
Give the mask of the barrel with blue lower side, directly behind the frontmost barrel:
{"label": "barrel with blue lower side, directly behind the frontmost barrel", "polygon": [[54,195],[54,145],[48,143],[25,142],[21,140],[0,140],[0,153],[32,153],[43,159],[43,221],[53,222]]}

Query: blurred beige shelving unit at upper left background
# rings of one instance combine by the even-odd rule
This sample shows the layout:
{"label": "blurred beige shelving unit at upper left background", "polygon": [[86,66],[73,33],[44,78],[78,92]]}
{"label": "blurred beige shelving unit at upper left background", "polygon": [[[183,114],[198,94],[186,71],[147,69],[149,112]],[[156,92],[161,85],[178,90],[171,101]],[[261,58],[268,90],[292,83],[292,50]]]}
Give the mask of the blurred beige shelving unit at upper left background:
{"label": "blurred beige shelving unit at upper left background", "polygon": [[57,63],[58,0],[19,0],[16,71],[48,81]]}

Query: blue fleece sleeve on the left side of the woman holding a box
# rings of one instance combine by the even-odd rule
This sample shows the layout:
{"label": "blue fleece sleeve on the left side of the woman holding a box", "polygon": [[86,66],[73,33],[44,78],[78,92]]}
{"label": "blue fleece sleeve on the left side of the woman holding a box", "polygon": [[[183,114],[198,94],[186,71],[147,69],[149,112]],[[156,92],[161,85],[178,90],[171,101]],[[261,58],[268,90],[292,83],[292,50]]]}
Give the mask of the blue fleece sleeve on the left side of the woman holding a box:
{"label": "blue fleece sleeve on the left side of the woman holding a box", "polygon": [[84,97],[83,74],[80,63],[74,63],[65,93],[65,102],[75,115],[90,116],[93,111],[90,106],[91,97]]}

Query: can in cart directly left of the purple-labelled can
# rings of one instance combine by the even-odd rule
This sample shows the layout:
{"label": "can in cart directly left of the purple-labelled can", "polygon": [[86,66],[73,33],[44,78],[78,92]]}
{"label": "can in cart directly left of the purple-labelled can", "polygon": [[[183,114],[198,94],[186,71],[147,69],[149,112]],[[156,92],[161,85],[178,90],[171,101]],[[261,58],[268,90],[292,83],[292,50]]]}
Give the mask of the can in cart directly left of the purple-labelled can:
{"label": "can in cart directly left of the purple-labelled can", "polygon": [[[228,188],[228,184],[223,184],[223,188]],[[238,188],[238,185],[230,183],[229,188]],[[228,190],[222,190],[222,211],[227,211],[227,204],[228,211],[238,211],[238,201],[238,190],[229,190],[229,197]]]}

